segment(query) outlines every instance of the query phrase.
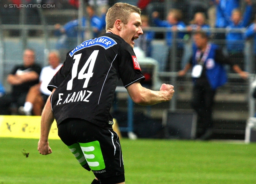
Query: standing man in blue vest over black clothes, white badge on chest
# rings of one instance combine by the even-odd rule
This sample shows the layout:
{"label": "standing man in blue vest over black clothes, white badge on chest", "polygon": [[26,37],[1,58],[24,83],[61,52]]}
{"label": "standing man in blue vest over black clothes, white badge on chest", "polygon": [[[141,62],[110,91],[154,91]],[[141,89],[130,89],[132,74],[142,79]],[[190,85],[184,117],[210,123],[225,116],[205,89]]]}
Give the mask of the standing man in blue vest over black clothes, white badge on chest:
{"label": "standing man in blue vest over black clothes, white badge on chest", "polygon": [[217,45],[208,42],[207,33],[198,31],[194,34],[195,47],[190,62],[178,75],[184,76],[192,68],[194,82],[192,94],[192,108],[198,114],[198,120],[203,124],[202,140],[208,140],[212,131],[212,107],[216,89],[227,81],[224,65],[232,65],[232,69],[246,79],[248,73],[233,65],[230,59],[224,56]]}

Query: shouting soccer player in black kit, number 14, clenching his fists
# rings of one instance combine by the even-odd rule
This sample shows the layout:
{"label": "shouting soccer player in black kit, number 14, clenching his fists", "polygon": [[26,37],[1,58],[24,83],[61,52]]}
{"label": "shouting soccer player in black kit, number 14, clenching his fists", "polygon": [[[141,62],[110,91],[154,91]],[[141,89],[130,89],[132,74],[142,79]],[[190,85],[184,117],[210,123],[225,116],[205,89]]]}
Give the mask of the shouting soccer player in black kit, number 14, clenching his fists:
{"label": "shouting soccer player in black kit, number 14, clenching his fists", "polygon": [[52,153],[48,135],[55,118],[60,139],[96,176],[92,184],[124,184],[122,151],[110,114],[119,78],[137,104],[166,102],[174,94],[169,84],[160,91],[140,84],[144,76],[133,51],[134,39],[143,34],[140,13],[136,6],[114,4],[106,14],[106,34],[70,51],[48,85],[52,95],[42,112],[38,151]]}

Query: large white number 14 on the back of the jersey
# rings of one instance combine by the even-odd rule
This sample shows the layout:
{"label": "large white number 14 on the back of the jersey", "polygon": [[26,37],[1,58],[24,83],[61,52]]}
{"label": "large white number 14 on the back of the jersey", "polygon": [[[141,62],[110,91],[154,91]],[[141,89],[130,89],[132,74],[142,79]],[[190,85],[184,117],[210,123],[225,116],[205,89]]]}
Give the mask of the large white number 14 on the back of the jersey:
{"label": "large white number 14 on the back of the jersey", "polygon": [[[80,70],[80,72],[78,73],[77,79],[85,78],[83,88],[87,88],[88,82],[89,82],[90,78],[92,77],[92,74],[93,74],[92,70],[93,70],[98,53],[99,53],[98,50],[93,51],[92,54],[90,55],[90,57],[85,62],[82,69]],[[71,71],[71,79],[68,81],[68,84],[67,84],[67,90],[72,90],[73,80],[76,77],[77,72],[78,72],[78,64],[81,59],[81,55],[82,54],[74,55],[75,62],[73,64],[72,71]],[[88,68],[87,73],[84,73],[87,68]]]}

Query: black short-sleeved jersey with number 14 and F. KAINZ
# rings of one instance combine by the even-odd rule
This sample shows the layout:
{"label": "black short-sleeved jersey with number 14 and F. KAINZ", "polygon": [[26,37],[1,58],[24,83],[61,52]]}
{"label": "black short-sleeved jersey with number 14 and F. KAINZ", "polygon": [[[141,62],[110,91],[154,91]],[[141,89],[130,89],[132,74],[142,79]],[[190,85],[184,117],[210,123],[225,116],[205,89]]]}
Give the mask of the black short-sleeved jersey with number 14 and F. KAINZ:
{"label": "black short-sleeved jersey with number 14 and F. KAINZ", "polygon": [[67,118],[81,118],[111,128],[110,107],[119,79],[125,87],[144,79],[132,47],[118,35],[106,33],[84,41],[67,54],[48,89],[52,111],[59,125]]}

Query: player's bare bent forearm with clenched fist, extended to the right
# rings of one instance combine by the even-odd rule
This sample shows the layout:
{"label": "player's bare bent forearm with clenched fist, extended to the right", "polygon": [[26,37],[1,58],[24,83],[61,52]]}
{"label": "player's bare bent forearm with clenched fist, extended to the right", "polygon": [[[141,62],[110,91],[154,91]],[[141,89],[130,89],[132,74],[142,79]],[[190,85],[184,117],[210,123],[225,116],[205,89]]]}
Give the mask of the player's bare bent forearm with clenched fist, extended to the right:
{"label": "player's bare bent forearm with clenched fist, extended to the right", "polygon": [[147,106],[170,101],[174,87],[170,84],[162,84],[159,91],[153,91],[141,86],[140,82],[135,82],[127,87],[127,91],[136,104]]}

